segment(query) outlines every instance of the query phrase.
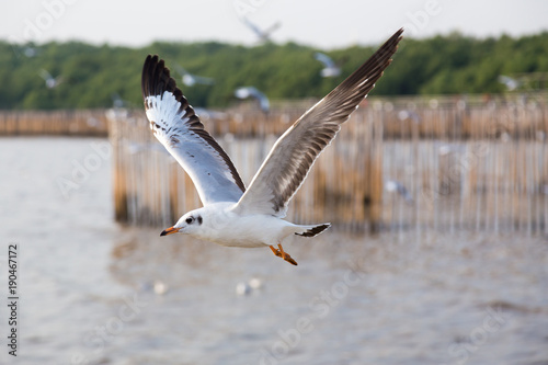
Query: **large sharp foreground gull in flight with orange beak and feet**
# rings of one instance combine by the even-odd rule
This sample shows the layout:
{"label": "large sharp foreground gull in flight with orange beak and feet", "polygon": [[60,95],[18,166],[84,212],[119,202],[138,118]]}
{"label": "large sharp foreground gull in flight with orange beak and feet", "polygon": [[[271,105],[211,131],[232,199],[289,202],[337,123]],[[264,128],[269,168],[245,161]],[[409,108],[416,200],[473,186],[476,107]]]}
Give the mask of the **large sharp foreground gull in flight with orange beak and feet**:
{"label": "large sharp foreground gull in flight with orange beak and feet", "polygon": [[289,235],[315,237],[331,224],[296,225],[283,219],[289,201],[320,152],[390,65],[402,32],[396,32],[277,139],[248,187],[204,128],[164,61],[149,55],[142,67],[141,90],[150,128],[190,175],[204,205],[184,214],[160,236],[179,232],[226,247],[269,247],[276,256],[297,265],[282,241]]}

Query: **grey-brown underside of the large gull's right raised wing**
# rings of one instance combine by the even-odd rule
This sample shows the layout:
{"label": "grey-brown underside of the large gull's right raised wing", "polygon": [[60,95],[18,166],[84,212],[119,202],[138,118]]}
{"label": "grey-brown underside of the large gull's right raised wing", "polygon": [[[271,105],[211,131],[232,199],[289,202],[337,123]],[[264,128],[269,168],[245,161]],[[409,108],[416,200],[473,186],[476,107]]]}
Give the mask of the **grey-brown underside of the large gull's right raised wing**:
{"label": "grey-brown underside of the large gull's right raised wing", "polygon": [[396,32],[364,65],[278,138],[235,207],[236,212],[285,216],[287,204],[320,152],[390,65],[402,32]]}

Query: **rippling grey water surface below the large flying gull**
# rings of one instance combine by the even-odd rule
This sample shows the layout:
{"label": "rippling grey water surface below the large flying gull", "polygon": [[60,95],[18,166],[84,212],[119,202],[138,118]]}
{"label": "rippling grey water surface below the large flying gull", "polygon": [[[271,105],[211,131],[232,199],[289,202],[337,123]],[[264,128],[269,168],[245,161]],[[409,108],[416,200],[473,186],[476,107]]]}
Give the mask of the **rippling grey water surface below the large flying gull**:
{"label": "rippling grey water surface below the large flying gull", "polygon": [[548,364],[546,238],[334,229],[284,244],[295,267],[114,224],[103,142],[0,139],[1,364]]}

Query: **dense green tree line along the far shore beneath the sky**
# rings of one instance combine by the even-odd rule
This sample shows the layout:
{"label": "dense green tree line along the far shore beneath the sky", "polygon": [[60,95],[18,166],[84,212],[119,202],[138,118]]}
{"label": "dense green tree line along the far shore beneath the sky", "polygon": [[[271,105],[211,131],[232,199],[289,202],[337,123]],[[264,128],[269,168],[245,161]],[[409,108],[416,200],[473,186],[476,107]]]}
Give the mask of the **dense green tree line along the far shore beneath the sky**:
{"label": "dense green tree line along the far shore beneath the sky", "polygon": [[[165,59],[195,106],[227,106],[236,101],[233,90],[242,85],[254,85],[271,99],[322,98],[375,48],[352,46],[327,52],[341,66],[342,75],[324,79],[320,76],[322,65],[313,58],[318,49],[294,43],[243,47],[157,42],[136,49],[79,42],[39,46],[0,42],[0,109],[110,107],[113,95],[119,95],[128,106],[139,106],[140,70],[148,54]],[[215,84],[184,85],[176,65],[215,79]],[[60,76],[62,82],[46,88],[41,69]],[[503,92],[498,77],[522,72],[548,72],[548,33],[521,38],[477,39],[458,33],[404,38],[374,93]]]}

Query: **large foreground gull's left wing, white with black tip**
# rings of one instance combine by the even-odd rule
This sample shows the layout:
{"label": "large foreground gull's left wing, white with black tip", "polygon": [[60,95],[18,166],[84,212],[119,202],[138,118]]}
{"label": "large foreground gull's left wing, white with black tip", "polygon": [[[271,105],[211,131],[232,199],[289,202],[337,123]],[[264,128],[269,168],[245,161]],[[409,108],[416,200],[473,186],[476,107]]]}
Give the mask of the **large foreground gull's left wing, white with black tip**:
{"label": "large foreground gull's left wing, white with black tip", "polygon": [[150,128],[191,176],[202,203],[238,202],[246,191],[238,171],[158,56],[145,60],[141,89]]}

